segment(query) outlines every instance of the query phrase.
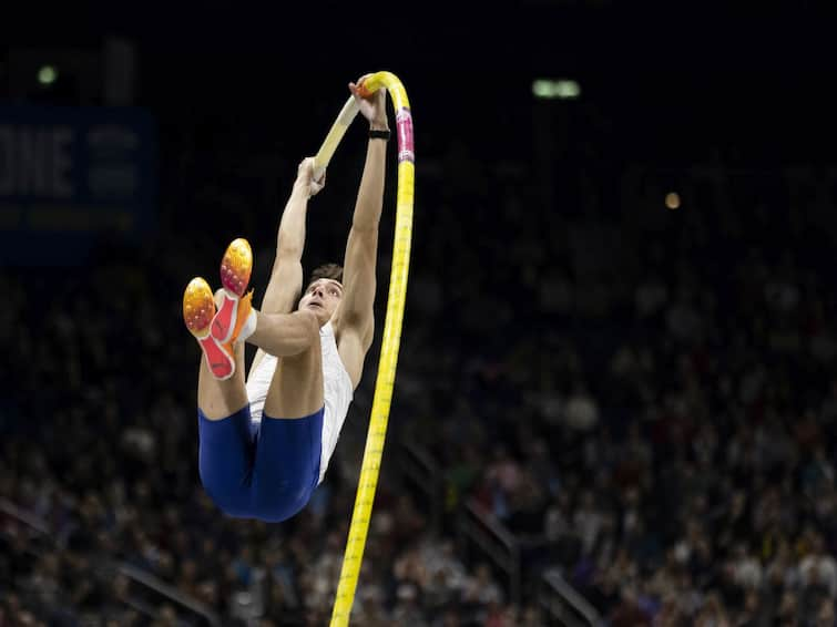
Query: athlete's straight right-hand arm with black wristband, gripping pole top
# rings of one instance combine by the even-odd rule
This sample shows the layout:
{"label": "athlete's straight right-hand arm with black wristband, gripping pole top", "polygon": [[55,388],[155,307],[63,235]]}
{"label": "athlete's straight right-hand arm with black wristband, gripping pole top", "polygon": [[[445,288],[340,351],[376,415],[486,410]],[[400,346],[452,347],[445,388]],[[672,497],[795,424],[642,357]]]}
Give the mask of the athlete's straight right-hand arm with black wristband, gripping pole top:
{"label": "athlete's straight right-hand arm with black wristband, gripping pole top", "polygon": [[[369,129],[388,131],[386,90],[380,89],[368,99],[358,94],[355,83],[349,83],[349,90],[358,100],[360,113],[369,121]],[[336,315],[335,332],[340,358],[355,387],[360,382],[364,359],[375,333],[375,266],[378,223],[384,205],[386,156],[387,142],[369,138],[343,264],[344,294]]]}

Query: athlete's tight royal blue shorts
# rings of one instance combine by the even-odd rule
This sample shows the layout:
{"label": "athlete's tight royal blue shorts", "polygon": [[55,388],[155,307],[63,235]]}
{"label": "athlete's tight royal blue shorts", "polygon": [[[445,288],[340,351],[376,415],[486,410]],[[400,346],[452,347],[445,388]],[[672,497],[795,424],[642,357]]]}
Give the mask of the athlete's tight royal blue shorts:
{"label": "athlete's tight royal blue shorts", "polygon": [[231,516],[277,523],[299,512],[319,482],[323,413],[293,420],[264,415],[253,425],[249,405],[222,420],[208,420],[198,409],[206,493]]}

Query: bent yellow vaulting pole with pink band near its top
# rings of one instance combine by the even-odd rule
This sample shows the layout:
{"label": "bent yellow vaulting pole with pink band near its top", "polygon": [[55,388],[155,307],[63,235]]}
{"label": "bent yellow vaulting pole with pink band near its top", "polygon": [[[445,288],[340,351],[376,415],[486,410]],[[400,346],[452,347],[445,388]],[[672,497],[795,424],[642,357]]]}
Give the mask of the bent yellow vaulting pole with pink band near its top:
{"label": "bent yellow vaulting pole with pink band near its top", "polygon": [[[389,275],[389,296],[387,299],[387,316],[384,321],[384,340],[381,342],[380,361],[378,362],[378,378],[375,383],[372,413],[369,419],[369,431],[366,436],[366,450],[360,467],[360,479],[355,497],[355,508],[351,514],[349,537],[346,542],[346,553],[343,557],[340,580],[337,585],[331,627],[348,626],[351,606],[355,602],[360,564],[364,559],[366,534],[378,486],[380,459],[384,453],[384,442],[387,435],[389,407],[392,402],[392,387],[395,386],[396,367],[398,364],[398,349],[401,343],[401,322],[407,296],[407,275],[410,266],[410,240],[412,237],[412,201],[416,184],[416,155],[412,142],[412,114],[407,92],[390,72],[377,72],[368,76],[360,85],[361,93],[368,95],[381,88],[386,88],[396,111],[396,129],[398,133],[398,195],[396,203],[396,229],[392,244],[392,269]],[[339,144],[346,129],[357,114],[354,96],[349,99],[340,111],[326,140],[315,156],[315,168],[320,172],[328,165],[331,155]]]}

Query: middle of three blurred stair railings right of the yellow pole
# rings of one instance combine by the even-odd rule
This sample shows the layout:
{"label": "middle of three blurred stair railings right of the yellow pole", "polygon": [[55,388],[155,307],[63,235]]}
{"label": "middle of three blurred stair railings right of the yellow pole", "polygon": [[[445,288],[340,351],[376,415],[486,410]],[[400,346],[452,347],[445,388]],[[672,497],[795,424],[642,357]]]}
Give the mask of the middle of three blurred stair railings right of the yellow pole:
{"label": "middle of three blurred stair railings right of the yellow pole", "polygon": [[462,510],[459,533],[463,541],[478,546],[509,580],[510,602],[520,603],[520,544],[493,515],[469,502]]}

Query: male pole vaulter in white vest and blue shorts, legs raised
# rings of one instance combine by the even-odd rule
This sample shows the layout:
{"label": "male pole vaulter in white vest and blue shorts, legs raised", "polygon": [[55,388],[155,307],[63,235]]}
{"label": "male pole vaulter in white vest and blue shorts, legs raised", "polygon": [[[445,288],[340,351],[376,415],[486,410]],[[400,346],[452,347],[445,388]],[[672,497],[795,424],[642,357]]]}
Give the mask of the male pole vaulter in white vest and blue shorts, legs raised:
{"label": "male pole vaulter in white vest and blue shorts, legs raised", "polygon": [[[224,254],[224,287],[215,297],[200,277],[183,295],[186,327],[203,350],[201,480],[232,516],[278,522],[305,506],[323,481],[372,343],[389,124],[386,91],[361,97],[365,79],[349,83],[370,127],[344,267],[317,268],[300,298],[308,198],[325,184],[308,157],[282,215],[261,311],[246,292],[253,255],[241,238]],[[258,347],[246,384],[244,341]]]}

